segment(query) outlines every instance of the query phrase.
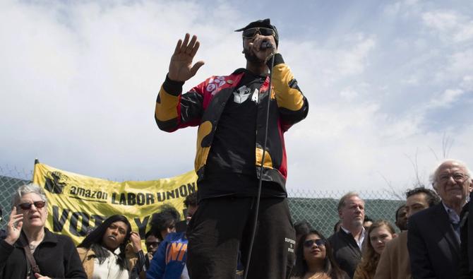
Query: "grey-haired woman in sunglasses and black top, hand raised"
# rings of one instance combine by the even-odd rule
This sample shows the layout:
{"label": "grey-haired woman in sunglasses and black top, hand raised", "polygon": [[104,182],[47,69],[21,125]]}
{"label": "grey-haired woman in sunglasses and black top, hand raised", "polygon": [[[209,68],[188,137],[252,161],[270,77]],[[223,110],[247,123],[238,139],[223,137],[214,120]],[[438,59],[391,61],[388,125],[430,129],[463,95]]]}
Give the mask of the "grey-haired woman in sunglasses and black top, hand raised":
{"label": "grey-haired woman in sunglasses and black top, hand raised", "polygon": [[72,239],[44,227],[47,199],[39,186],[20,186],[11,205],[0,242],[0,278],[86,278]]}

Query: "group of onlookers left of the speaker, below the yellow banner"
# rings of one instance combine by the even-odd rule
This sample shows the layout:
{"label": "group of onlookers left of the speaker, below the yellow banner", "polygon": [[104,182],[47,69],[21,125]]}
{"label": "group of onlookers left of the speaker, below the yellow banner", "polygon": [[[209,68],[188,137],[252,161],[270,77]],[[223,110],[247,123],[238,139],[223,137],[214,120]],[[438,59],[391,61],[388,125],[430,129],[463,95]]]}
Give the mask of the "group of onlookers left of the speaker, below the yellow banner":
{"label": "group of onlookers left of the speaker, below the yellow banner", "polygon": [[47,197],[36,184],[16,189],[0,242],[0,278],[188,278],[186,226],[198,208],[197,193],[186,196],[186,220],[164,205],[152,215],[144,237],[124,215],[112,215],[88,232],[76,247],[70,237],[50,232]]}

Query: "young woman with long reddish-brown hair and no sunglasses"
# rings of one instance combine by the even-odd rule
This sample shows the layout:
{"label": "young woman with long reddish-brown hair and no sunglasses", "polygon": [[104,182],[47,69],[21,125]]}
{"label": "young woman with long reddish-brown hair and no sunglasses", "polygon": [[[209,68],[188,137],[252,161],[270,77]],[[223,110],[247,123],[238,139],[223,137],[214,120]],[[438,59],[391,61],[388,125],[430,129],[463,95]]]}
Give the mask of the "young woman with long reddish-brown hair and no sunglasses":
{"label": "young woman with long reddish-brown hair and no sunglasses", "polygon": [[364,241],[363,255],[353,275],[354,279],[374,278],[376,267],[386,242],[396,237],[393,225],[385,220],[373,222],[373,225],[368,229],[367,235],[369,238]]}

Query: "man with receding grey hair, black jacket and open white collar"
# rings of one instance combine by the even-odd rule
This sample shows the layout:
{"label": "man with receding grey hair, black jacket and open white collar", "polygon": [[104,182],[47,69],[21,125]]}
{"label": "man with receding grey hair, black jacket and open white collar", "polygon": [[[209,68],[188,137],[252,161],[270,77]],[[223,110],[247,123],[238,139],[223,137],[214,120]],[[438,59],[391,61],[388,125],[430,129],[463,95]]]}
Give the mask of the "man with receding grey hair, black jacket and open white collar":
{"label": "man with receding grey hair, black jacket and open white collar", "polygon": [[335,261],[352,278],[361,260],[361,244],[366,235],[363,227],[364,201],[357,193],[345,194],[338,203],[338,216],[342,225],[328,241],[332,246]]}

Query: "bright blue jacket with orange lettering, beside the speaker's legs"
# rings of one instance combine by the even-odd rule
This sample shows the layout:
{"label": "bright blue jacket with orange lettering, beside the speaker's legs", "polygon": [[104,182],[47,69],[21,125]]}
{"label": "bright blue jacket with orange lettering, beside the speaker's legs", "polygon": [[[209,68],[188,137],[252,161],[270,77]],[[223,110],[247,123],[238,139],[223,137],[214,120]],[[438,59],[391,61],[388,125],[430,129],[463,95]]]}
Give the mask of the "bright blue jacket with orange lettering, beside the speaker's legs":
{"label": "bright blue jacket with orange lettering, beside the speaker's legs", "polygon": [[185,232],[171,232],[160,243],[150,268],[147,279],[179,279],[186,265],[187,238]]}

